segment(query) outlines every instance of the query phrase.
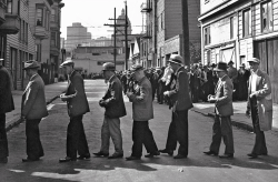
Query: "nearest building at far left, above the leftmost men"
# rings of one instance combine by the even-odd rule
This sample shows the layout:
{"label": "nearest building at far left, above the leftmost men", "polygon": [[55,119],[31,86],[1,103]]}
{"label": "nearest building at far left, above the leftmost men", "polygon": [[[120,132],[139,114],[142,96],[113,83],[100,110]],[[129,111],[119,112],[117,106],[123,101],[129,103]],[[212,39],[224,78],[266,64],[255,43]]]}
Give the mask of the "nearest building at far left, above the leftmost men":
{"label": "nearest building at far left, above the leftmost men", "polygon": [[12,75],[13,89],[22,90],[28,82],[22,70],[23,62],[33,59],[36,53],[34,38],[29,23],[29,6],[27,0],[3,2],[7,2],[7,9],[3,11],[6,22],[0,27],[0,32],[7,32],[7,37],[6,41],[1,41],[1,57],[4,58],[4,65]]}

